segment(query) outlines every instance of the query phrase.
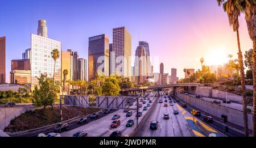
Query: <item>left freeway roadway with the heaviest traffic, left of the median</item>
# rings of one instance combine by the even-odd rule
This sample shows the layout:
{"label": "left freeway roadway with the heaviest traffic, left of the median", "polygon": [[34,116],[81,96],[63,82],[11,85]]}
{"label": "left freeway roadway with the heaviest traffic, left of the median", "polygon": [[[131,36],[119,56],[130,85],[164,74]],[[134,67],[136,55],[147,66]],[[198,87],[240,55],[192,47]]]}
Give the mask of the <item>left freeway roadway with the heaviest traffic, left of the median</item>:
{"label": "left freeway roadway with the heaviest traffic, left of the median", "polygon": [[[154,103],[156,100],[154,97],[148,97],[148,98],[150,98],[152,100],[152,103]],[[139,99],[141,99],[141,98],[139,98]],[[148,102],[149,102],[149,100],[146,100],[146,104],[143,104],[143,107],[146,107]],[[134,102],[133,106],[131,108],[136,108],[135,104],[136,103]],[[139,102],[139,104],[142,104],[142,103]],[[142,111],[143,107],[140,109],[140,111],[142,112],[142,117],[139,117],[139,122],[141,122],[141,119],[148,111],[148,110]],[[148,108],[150,108],[150,107],[148,107]],[[119,118],[119,120],[121,121],[121,125],[118,126],[117,128],[111,128],[110,124],[113,121],[112,117],[115,114],[119,114],[121,116]],[[126,127],[126,122],[130,119],[134,120],[135,124],[132,127]],[[80,126],[79,128],[69,130],[68,132],[63,132],[63,133],[61,133],[61,136],[71,137],[71,136],[73,136],[73,134],[75,132],[78,132],[80,130],[87,132],[89,137],[107,137],[115,130],[121,131],[122,136],[130,136],[135,128],[136,128],[136,111],[133,110],[133,115],[131,117],[126,117],[126,113],[123,112],[122,109],[120,109],[117,112],[110,113],[108,116],[102,117],[101,119],[98,119],[98,120],[90,122],[86,125]]]}

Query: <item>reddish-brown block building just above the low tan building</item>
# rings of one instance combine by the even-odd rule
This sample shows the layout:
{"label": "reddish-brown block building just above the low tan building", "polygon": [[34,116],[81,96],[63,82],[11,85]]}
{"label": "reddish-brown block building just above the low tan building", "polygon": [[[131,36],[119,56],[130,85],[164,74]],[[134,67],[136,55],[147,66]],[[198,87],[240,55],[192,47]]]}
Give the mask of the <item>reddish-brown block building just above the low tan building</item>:
{"label": "reddish-brown block building just above the low tan building", "polygon": [[11,70],[31,70],[30,60],[11,60]]}

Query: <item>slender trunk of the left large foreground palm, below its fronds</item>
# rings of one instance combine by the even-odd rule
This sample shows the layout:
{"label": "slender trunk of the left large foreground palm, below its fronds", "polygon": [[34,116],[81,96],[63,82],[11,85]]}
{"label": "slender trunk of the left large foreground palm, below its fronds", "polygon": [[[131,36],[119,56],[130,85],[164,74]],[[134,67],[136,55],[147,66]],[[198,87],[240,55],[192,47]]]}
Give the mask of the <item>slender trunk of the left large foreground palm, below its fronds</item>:
{"label": "slender trunk of the left large foreground palm, below its fronds", "polygon": [[241,52],[241,46],[240,46],[240,37],[239,37],[239,31],[237,29],[237,44],[238,44],[238,62],[240,65],[240,74],[241,74],[241,91],[242,91],[242,105],[243,105],[243,123],[244,123],[244,132],[245,136],[248,137],[248,117],[247,117],[247,103],[246,103],[246,94],[245,94],[245,71],[243,67],[243,56]]}

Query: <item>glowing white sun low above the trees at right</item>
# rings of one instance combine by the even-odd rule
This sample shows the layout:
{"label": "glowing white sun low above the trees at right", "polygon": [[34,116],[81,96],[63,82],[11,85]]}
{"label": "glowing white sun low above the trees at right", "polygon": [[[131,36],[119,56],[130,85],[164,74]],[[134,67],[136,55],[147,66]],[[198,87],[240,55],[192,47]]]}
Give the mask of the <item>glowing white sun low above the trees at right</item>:
{"label": "glowing white sun low above the trees at right", "polygon": [[224,49],[212,49],[204,60],[207,65],[222,65],[228,62],[228,52]]}

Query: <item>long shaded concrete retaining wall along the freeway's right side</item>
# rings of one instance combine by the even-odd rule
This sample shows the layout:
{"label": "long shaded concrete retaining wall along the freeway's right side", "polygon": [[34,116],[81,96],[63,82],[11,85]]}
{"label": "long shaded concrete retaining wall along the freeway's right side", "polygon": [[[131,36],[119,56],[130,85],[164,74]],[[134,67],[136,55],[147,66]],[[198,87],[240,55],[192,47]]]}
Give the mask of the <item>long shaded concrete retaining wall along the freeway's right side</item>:
{"label": "long shaded concrete retaining wall along the freeway's right side", "polygon": [[[200,109],[201,111],[207,112],[210,115],[216,116],[218,118],[221,117],[222,114],[228,115],[228,121],[232,122],[233,124],[244,126],[243,125],[243,112],[235,109],[229,108],[222,104],[215,104],[204,100],[202,98],[195,98],[194,96],[184,95],[184,94],[177,94],[177,97],[189,105]],[[252,115],[250,113],[248,115],[248,126],[249,129],[252,129]]]}

